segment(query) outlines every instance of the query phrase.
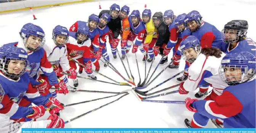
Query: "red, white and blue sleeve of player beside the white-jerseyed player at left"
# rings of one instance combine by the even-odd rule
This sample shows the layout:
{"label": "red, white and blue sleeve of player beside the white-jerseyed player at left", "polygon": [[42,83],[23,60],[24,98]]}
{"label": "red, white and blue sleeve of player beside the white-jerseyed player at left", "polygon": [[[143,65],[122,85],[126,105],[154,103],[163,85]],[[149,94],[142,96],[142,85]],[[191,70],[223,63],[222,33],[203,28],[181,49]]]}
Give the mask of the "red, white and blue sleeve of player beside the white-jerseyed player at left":
{"label": "red, white and blue sleeve of player beside the white-jerseyed player at left", "polygon": [[57,80],[57,76],[51,67],[51,63],[47,59],[46,52],[43,50],[43,57],[40,62],[40,68],[42,69],[43,73],[48,77],[50,85],[59,84]]}

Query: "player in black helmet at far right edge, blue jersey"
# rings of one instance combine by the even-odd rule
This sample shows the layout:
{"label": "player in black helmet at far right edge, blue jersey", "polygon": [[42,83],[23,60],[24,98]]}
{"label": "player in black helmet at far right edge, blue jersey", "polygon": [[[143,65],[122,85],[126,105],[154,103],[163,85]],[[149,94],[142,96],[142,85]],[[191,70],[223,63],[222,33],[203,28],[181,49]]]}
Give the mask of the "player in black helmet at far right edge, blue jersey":
{"label": "player in black helmet at far right edge, blue jersey", "polygon": [[232,20],[225,24],[222,30],[222,40],[226,43],[226,53],[247,51],[255,56],[256,43],[247,38],[248,22],[245,20]]}

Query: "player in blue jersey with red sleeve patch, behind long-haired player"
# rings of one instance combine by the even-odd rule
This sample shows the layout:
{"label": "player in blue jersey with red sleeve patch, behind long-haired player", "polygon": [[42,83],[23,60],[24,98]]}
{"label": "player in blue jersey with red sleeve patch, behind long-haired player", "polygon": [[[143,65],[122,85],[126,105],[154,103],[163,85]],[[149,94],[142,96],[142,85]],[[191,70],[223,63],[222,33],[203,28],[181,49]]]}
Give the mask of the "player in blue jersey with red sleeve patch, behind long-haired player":
{"label": "player in blue jersey with red sleeve patch, behind long-haired player", "polygon": [[[214,27],[202,20],[202,16],[198,11],[191,11],[187,14],[184,22],[186,22],[187,30],[189,30],[193,36],[196,36],[200,41],[202,48],[216,47],[222,52],[225,52],[225,45],[223,45],[221,40],[221,32]],[[201,89],[197,94],[205,93],[208,90]]]}

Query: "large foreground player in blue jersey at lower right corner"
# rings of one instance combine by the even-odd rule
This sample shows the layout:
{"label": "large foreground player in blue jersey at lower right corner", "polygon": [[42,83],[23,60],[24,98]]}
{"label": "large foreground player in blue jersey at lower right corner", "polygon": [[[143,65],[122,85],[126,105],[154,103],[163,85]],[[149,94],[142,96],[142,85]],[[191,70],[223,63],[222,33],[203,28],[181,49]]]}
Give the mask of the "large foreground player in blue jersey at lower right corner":
{"label": "large foreground player in blue jersey at lower right corner", "polygon": [[255,62],[250,52],[227,54],[219,75],[229,86],[215,101],[186,98],[186,108],[195,112],[192,121],[184,120],[186,127],[203,128],[209,119],[224,119],[225,128],[255,128]]}

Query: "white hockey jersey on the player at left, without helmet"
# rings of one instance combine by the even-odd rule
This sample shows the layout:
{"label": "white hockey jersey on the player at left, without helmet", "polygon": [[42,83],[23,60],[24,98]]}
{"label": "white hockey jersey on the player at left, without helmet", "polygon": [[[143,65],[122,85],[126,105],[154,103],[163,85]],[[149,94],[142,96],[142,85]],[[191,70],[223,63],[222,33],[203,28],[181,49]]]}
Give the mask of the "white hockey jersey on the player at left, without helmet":
{"label": "white hockey jersey on the player at left, without helmet", "polygon": [[63,71],[70,69],[66,45],[59,47],[54,43],[47,43],[43,46],[43,49],[45,49],[47,59],[51,65],[61,65]]}

